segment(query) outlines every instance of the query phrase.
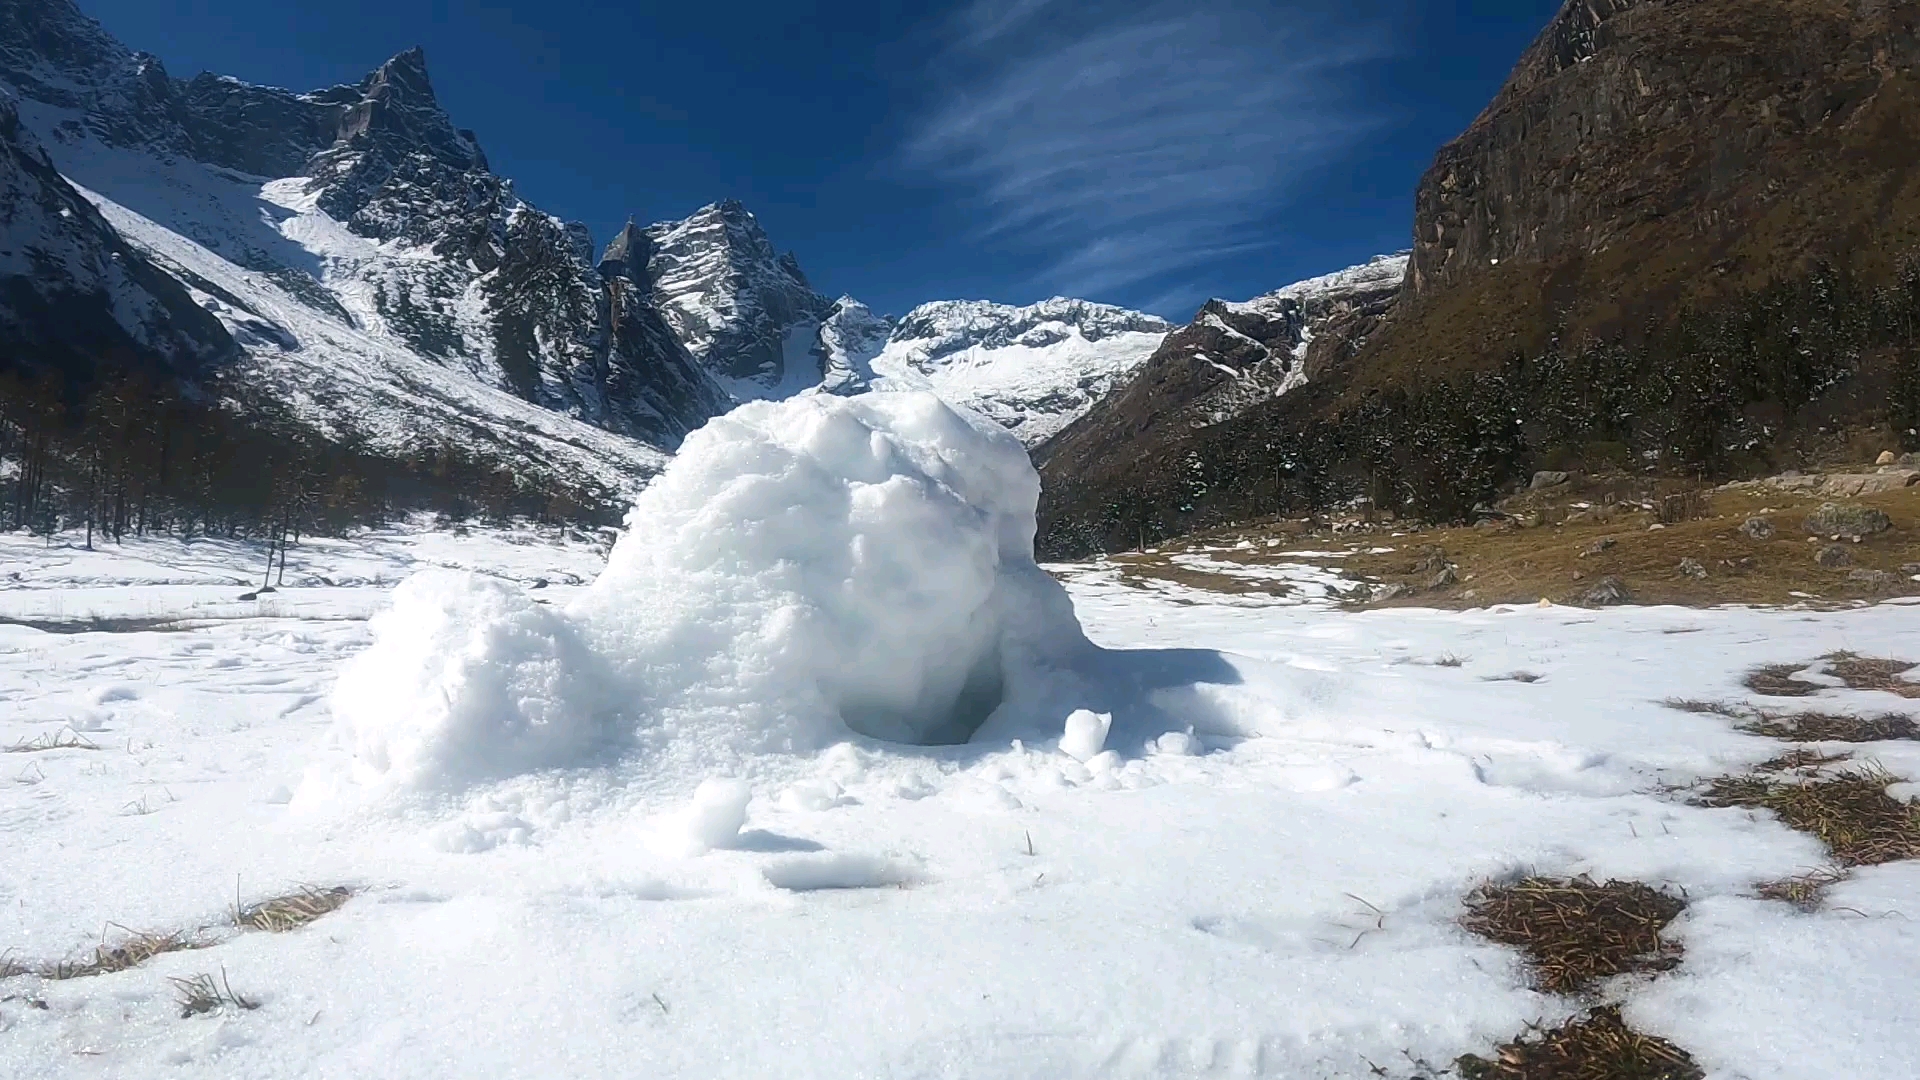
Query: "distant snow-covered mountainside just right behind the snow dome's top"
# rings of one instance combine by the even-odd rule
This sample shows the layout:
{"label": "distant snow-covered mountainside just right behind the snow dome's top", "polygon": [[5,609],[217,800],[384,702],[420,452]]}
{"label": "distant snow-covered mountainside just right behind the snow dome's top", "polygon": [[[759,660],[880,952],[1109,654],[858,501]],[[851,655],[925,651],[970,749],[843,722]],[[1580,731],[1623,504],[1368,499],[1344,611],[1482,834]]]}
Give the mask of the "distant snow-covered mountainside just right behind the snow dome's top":
{"label": "distant snow-covered mountainside just right behind the snow dome's top", "polygon": [[1156,315],[1052,298],[922,304],[872,356],[851,354],[877,386],[925,388],[1035,446],[1125,380],[1173,327]]}

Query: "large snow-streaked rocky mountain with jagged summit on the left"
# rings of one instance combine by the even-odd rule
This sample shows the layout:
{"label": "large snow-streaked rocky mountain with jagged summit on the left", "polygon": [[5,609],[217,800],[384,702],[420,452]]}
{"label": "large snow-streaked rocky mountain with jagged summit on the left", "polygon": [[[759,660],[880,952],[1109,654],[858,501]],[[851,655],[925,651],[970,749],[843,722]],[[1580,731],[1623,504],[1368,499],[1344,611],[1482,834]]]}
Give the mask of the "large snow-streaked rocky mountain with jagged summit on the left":
{"label": "large snow-streaked rocky mountain with jagged summit on the left", "polygon": [[419,50],[311,94],[182,83],[69,0],[0,0],[0,83],[54,165],[240,340],[221,373],[236,400],[603,494],[662,459],[605,432],[674,446],[730,405],[643,273],[601,273],[582,227],[488,169]]}

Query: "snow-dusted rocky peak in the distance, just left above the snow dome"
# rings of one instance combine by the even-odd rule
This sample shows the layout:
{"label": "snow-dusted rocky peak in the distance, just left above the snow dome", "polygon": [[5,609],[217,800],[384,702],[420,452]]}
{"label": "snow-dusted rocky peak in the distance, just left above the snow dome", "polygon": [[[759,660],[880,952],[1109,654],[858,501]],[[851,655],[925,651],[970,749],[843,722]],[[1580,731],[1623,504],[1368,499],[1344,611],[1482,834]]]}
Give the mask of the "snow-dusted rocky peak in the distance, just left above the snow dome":
{"label": "snow-dusted rocky peak in the distance, just left above the snow dome", "polygon": [[778,254],[739,200],[645,229],[647,279],[674,334],[739,398],[785,396],[822,379],[816,332],[833,302],[793,254]]}

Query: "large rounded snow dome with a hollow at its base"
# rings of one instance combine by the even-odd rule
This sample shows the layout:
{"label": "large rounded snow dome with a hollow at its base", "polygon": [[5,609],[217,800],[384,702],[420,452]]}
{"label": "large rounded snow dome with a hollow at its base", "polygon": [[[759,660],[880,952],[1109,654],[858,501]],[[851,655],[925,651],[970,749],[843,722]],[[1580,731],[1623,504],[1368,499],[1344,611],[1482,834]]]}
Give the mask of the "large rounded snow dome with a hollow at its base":
{"label": "large rounded snow dome with a hollow at its base", "polygon": [[1037,500],[1020,442],[933,394],[753,402],[641,492],[572,613],[739,751],[1058,724],[1091,646],[1033,563]]}

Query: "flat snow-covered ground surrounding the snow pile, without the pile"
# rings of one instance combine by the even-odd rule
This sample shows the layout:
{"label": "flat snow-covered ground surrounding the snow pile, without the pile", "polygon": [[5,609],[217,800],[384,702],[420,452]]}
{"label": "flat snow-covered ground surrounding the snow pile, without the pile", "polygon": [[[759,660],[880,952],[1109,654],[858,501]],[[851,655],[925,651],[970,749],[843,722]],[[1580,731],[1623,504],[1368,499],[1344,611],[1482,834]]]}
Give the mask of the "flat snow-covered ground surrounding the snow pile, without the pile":
{"label": "flat snow-covered ground surrounding the snow pile, without the pile", "polygon": [[[1062,711],[1018,746],[666,740],[372,798],[328,696],[390,584],[480,571],[515,582],[503,625],[540,630],[591,605],[564,584],[591,577],[589,544],[301,544],[298,590],[240,601],[261,561],[244,546],[67,542],[0,542],[0,615],[186,623],[0,626],[0,746],[71,728],[98,748],[0,755],[0,951],[219,926],[236,892],[365,892],[290,934],[0,982],[0,1076],[1411,1076],[1571,1009],[1455,928],[1465,890],[1521,871],[1686,890],[1686,961],[1622,995],[1709,1076],[1895,1078],[1920,1059],[1920,871],[1860,871],[1814,915],[1753,899],[1820,865],[1816,844],[1665,786],[1780,744],[1659,705],[1741,700],[1755,663],[1916,657],[1908,605],[1356,615],[1054,567],[1104,650],[1079,661],[1106,705],[1073,723],[1073,753]],[[645,632],[649,609],[630,617]],[[1430,663],[1448,653],[1465,663]],[[1515,671],[1542,678],[1488,680]],[[687,717],[689,738],[718,730]],[[1866,755],[1920,774],[1914,744]],[[169,976],[223,969],[259,1009],[180,1019]]]}

